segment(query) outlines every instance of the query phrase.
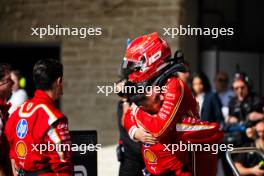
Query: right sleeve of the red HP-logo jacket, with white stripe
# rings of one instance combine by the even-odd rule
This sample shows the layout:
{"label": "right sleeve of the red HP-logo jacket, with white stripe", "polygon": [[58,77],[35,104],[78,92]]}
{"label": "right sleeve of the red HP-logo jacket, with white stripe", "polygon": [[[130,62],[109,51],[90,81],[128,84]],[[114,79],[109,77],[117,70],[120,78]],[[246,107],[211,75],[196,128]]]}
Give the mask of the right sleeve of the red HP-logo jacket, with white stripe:
{"label": "right sleeve of the red HP-logo jacket, with white stripe", "polygon": [[[60,146],[58,150],[47,151],[45,154],[49,158],[50,168],[54,173],[71,175],[71,140],[66,118],[61,118],[55,122],[47,131],[45,143]],[[63,146],[66,146],[65,148]]]}

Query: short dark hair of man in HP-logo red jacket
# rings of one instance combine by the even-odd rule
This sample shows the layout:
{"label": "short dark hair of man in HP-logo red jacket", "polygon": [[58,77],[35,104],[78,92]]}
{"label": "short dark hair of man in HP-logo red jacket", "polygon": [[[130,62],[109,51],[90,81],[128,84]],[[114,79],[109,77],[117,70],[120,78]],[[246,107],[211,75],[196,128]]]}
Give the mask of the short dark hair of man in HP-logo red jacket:
{"label": "short dark hair of man in HP-logo red jacket", "polygon": [[63,66],[55,59],[39,60],[33,68],[35,87],[41,90],[50,90],[53,83],[63,76]]}

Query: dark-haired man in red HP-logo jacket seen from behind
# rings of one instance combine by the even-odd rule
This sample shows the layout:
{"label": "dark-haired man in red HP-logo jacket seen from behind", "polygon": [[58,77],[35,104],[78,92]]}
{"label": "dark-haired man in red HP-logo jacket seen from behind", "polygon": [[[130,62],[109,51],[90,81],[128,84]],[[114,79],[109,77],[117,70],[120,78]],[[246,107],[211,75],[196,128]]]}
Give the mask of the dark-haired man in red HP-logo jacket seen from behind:
{"label": "dark-haired man in red HP-logo jacket seen from behind", "polygon": [[6,124],[13,173],[70,176],[71,151],[56,147],[71,144],[68,120],[55,104],[63,93],[63,66],[57,60],[40,60],[33,79],[34,97],[17,108]]}

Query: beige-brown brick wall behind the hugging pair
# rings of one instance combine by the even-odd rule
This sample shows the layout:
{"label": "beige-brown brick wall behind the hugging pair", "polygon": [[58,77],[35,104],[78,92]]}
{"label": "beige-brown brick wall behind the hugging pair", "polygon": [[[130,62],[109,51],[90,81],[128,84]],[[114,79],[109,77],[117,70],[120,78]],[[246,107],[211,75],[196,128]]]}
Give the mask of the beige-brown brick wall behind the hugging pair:
{"label": "beige-brown brick wall behind the hugging pair", "polygon": [[[97,85],[118,80],[126,39],[177,27],[186,20],[185,0],[2,0],[1,43],[59,43],[65,67],[62,107],[73,130],[98,130],[99,142],[116,143],[118,97],[98,95]],[[188,5],[189,6],[189,5]],[[191,6],[191,9],[193,7]],[[31,36],[31,27],[102,27],[101,36]],[[168,40],[173,50],[183,39]],[[186,44],[185,48],[186,48]],[[196,44],[192,44],[196,47]],[[187,50],[187,49],[186,49]],[[190,52],[195,62],[195,52]],[[191,63],[192,64],[192,63]]]}

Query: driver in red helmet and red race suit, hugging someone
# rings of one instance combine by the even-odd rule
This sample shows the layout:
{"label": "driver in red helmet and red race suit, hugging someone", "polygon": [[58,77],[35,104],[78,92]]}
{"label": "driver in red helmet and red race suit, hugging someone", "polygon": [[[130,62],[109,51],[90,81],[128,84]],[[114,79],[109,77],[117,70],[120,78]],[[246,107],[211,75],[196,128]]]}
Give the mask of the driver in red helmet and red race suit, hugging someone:
{"label": "driver in red helmet and red race suit, hugging someone", "polygon": [[[128,81],[140,84],[151,81],[153,78],[166,73],[161,70],[168,68],[167,66],[170,63],[167,61],[170,56],[171,51],[169,46],[158,37],[157,33],[135,39],[128,46],[124,58],[123,65],[126,65],[130,70]],[[143,145],[142,147],[145,164],[151,174],[160,175],[168,171],[173,171],[174,175],[177,176],[188,175],[188,173],[184,173],[183,171],[184,165],[188,163],[188,155],[186,155],[186,152],[178,152],[176,153],[176,157],[171,156],[170,153],[164,152],[165,146],[162,144],[175,143],[175,140],[179,138],[178,135],[175,135],[176,130],[177,132],[186,130],[186,124],[176,126],[176,123],[187,123],[189,124],[187,127],[192,126],[190,125],[192,123],[196,123],[198,117],[197,103],[187,85],[176,78],[176,76],[171,75],[165,79],[164,85],[166,91],[163,94],[164,101],[159,111],[155,114],[150,114],[134,103],[126,114],[125,127],[131,138],[134,138],[138,128],[142,127],[154,137],[160,139],[160,142],[156,145]],[[186,119],[186,117],[190,118]],[[197,121],[197,123],[202,122]],[[221,138],[221,135],[214,133],[218,130],[217,125],[204,125],[204,128],[209,130],[206,131],[207,134],[201,132],[201,128],[193,128],[192,131],[189,131],[190,133],[183,133],[181,139],[184,140],[185,137],[188,138],[189,136],[191,138],[195,135],[198,137],[198,141],[202,141],[199,139],[199,136],[201,138],[207,137],[207,139],[213,137],[216,141]],[[200,132],[197,130],[200,130]],[[212,132],[212,134],[209,134],[209,132]],[[204,170],[202,174],[208,176],[214,175],[215,164],[216,162],[211,163],[209,161],[207,167],[212,168],[212,171],[206,173],[204,168],[201,169]]]}

